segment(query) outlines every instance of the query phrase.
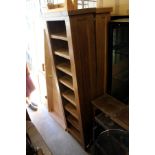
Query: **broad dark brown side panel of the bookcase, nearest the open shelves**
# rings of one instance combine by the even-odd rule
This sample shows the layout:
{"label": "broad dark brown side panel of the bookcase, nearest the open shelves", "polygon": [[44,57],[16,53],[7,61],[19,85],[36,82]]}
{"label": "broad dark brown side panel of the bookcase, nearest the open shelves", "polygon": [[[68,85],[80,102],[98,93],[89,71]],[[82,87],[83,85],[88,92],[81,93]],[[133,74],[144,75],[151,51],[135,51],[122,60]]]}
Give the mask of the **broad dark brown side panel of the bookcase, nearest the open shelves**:
{"label": "broad dark brown side panel of the bookcase, nearest the open shelves", "polygon": [[95,94],[96,58],[94,38],[94,17],[76,15],[70,17],[72,42],[74,51],[77,92],[79,95],[80,117],[85,146],[89,144],[91,136],[91,105]]}

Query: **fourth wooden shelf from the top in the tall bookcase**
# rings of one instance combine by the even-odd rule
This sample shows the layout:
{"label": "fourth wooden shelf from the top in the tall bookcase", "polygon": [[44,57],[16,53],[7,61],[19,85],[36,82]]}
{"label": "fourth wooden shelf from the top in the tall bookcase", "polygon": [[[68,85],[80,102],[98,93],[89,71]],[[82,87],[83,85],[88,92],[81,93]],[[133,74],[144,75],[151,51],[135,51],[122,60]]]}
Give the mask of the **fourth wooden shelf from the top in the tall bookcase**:
{"label": "fourth wooden shelf from the top in the tall bookcase", "polygon": [[73,84],[72,84],[72,79],[69,78],[68,76],[63,76],[59,78],[60,83],[63,85],[67,86],[68,88],[74,90]]}

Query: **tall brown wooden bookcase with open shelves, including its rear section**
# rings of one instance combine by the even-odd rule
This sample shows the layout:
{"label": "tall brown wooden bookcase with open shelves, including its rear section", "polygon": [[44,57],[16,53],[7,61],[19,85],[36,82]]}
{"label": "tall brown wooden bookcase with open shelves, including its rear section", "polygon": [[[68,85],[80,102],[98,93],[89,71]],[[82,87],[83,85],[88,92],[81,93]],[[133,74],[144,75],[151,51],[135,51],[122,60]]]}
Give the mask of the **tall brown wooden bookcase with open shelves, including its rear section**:
{"label": "tall brown wooden bookcase with open shelves, including its rear section", "polygon": [[84,148],[92,135],[91,100],[106,90],[107,23],[111,11],[91,8],[45,15],[60,99],[57,104],[62,107],[66,130]]}

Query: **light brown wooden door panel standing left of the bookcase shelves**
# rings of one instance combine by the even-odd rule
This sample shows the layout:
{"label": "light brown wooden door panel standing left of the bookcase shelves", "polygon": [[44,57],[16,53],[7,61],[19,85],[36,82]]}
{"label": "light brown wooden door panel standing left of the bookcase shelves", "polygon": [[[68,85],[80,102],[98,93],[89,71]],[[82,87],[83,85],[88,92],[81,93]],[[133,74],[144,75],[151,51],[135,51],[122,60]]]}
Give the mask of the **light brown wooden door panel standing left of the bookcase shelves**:
{"label": "light brown wooden door panel standing left of the bookcase shelves", "polygon": [[66,128],[65,118],[62,110],[62,105],[59,100],[59,91],[54,69],[52,66],[52,57],[50,54],[51,50],[48,46],[48,36],[45,34],[45,68],[46,68],[46,87],[47,87],[47,100],[48,100],[48,111],[56,119],[56,121],[63,127]]}

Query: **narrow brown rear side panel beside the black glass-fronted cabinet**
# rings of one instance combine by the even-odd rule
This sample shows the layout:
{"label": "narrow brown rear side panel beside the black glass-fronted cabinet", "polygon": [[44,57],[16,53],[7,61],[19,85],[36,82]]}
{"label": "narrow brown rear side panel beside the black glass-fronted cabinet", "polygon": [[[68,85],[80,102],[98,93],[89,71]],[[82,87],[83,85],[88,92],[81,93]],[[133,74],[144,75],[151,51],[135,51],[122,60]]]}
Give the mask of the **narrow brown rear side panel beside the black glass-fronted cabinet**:
{"label": "narrow brown rear side panel beside the black glass-fronted cabinet", "polygon": [[109,14],[96,15],[96,61],[97,61],[97,76],[96,76],[96,96],[100,96],[107,89],[107,53],[108,53],[108,22]]}

